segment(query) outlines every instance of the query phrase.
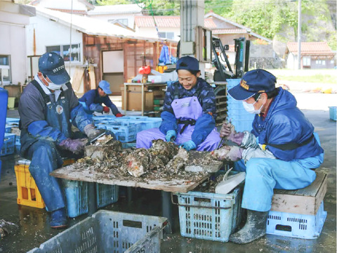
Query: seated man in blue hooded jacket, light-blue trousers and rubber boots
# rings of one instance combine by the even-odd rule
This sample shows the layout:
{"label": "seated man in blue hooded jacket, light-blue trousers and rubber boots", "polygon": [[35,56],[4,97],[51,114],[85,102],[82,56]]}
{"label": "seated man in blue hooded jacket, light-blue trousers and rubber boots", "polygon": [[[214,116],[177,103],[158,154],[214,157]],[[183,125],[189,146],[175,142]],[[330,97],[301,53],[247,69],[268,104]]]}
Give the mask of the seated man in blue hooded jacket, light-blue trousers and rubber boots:
{"label": "seated man in blue hooded jacket, light-blue trousers and rubber boots", "polygon": [[294,190],[316,179],[324,150],[314,135],[314,126],[296,107],[296,98],[275,88],[276,77],[265,70],[251,70],[240,84],[228,91],[241,100],[246,111],[256,114],[253,130],[236,132],[223,124],[220,136],[236,143],[220,159],[236,162],[246,171],[242,207],[246,225],[230,235],[230,241],[244,244],[265,235],[273,189]]}

